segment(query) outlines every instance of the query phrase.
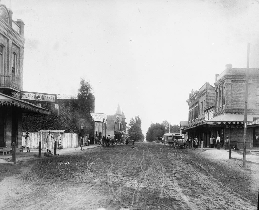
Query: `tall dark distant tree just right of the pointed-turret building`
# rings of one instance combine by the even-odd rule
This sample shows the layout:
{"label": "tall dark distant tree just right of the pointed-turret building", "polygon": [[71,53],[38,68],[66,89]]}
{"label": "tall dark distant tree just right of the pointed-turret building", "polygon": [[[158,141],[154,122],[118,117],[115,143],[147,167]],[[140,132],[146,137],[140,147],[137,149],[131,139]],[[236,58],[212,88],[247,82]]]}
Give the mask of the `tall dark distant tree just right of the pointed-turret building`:
{"label": "tall dark distant tree just right of the pointed-turret building", "polygon": [[138,117],[135,117],[135,120],[133,118],[130,119],[130,128],[128,130],[129,135],[131,136],[131,138],[135,141],[143,141],[145,138],[144,135],[142,134],[142,130],[141,130],[141,120]]}

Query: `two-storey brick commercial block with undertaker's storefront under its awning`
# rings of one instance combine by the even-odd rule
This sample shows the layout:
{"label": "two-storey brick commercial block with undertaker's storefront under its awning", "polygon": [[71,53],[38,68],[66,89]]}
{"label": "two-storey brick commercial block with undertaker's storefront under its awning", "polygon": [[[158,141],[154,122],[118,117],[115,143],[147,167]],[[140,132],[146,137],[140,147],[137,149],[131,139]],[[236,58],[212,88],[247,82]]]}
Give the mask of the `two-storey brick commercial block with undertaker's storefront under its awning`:
{"label": "two-storey brick commercial block with undertaker's storefront under its awning", "polygon": [[[259,117],[258,70],[249,70],[247,122]],[[211,85],[206,85],[204,90],[201,90],[203,86],[198,93],[189,95],[189,126],[184,130],[188,131],[189,138],[197,136],[199,144],[204,141],[205,147],[209,146],[210,136],[217,134],[221,137],[221,147],[227,136],[242,147],[246,68],[232,68],[232,64],[227,64],[221,74],[215,75],[214,85],[214,91]],[[250,147],[253,147],[253,129],[247,128],[247,148]]]}

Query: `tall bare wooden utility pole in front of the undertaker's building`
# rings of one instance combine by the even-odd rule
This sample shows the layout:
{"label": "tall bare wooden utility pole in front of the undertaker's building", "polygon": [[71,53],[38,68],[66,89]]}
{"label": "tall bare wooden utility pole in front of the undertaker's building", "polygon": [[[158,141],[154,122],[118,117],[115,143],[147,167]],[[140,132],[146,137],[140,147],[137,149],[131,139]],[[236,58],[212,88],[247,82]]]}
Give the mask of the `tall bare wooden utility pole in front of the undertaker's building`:
{"label": "tall bare wooden utility pole in front of the undertaker's building", "polygon": [[243,151],[243,168],[246,167],[246,125],[247,125],[247,101],[248,101],[248,82],[249,82],[249,54],[250,43],[247,43],[247,66],[246,66],[246,92],[244,99],[244,151]]}

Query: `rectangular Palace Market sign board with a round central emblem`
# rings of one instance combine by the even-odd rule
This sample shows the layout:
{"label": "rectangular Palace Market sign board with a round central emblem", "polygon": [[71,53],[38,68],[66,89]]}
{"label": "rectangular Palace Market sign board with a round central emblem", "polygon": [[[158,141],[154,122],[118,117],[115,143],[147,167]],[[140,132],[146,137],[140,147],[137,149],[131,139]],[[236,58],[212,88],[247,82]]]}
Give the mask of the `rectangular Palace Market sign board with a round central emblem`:
{"label": "rectangular Palace Market sign board with a round central emblem", "polygon": [[20,92],[21,100],[33,100],[33,101],[46,101],[56,103],[57,95],[48,93],[36,93],[36,92]]}

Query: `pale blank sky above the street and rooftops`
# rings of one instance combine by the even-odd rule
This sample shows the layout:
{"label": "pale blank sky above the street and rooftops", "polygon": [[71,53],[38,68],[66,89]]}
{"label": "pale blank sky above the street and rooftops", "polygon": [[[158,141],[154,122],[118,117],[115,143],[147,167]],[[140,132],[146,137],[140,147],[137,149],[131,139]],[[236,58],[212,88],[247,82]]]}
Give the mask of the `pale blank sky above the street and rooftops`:
{"label": "pale blank sky above the street and rooftops", "polygon": [[188,120],[189,92],[227,63],[259,67],[258,1],[2,0],[25,23],[24,91],[93,87],[95,112],[126,122]]}

